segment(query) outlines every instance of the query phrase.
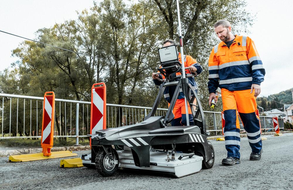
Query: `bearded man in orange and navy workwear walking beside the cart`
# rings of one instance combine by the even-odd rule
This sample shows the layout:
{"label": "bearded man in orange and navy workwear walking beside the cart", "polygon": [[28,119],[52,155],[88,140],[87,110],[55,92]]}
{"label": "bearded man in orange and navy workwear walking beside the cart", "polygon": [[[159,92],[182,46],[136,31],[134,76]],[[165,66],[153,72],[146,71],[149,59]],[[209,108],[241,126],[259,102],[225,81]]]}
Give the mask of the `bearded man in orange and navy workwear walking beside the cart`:
{"label": "bearded man in orange and navy workwear walking beside the cart", "polygon": [[216,101],[215,91],[222,91],[225,116],[224,137],[227,158],[223,165],[240,163],[240,125],[243,122],[252,149],[250,160],[260,160],[262,141],[260,122],[256,115],[256,97],[260,94],[260,83],[264,80],[265,69],[254,42],[246,36],[233,35],[227,20],[219,20],[214,30],[222,40],[214,46],[209,57],[209,104]]}

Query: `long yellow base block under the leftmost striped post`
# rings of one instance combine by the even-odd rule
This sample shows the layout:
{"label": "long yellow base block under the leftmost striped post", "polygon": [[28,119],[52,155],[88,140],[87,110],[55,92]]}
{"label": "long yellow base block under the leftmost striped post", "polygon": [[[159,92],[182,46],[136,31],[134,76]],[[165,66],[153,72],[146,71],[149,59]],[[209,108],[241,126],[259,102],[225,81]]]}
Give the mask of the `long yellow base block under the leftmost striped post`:
{"label": "long yellow base block under the leftmost striped post", "polygon": [[51,156],[44,156],[43,153],[13,155],[9,156],[9,162],[28,162],[35,160],[47,160],[53,158],[77,156],[77,154],[72,153],[71,151],[56,151],[51,153]]}

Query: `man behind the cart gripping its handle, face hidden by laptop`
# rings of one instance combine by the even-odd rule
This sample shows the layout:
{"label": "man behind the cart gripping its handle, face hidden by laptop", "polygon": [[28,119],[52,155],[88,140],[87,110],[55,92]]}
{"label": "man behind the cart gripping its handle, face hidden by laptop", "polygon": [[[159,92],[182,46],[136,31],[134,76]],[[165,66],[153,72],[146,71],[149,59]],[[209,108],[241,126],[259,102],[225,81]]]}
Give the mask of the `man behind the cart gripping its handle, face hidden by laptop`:
{"label": "man behind the cart gripping its handle, face hidden by laptop", "polygon": [[[163,47],[166,46],[171,46],[175,44],[175,42],[171,39],[167,39],[166,41],[163,42]],[[181,54],[178,53],[178,59],[179,62],[181,62]],[[187,74],[192,74],[192,75],[199,75],[202,72],[202,66],[196,62],[195,59],[193,59],[191,56],[185,55],[184,59],[184,66],[189,67],[189,69],[186,71]],[[176,77],[178,75],[181,75],[181,72],[177,72],[172,74],[174,75],[173,77]],[[171,75],[171,76],[172,76]],[[176,76],[175,76],[176,75]],[[152,78],[154,80],[154,83],[156,85],[161,85],[162,82],[158,80],[163,79],[164,76],[160,75],[155,75],[155,73],[152,74]],[[175,79],[176,81],[179,80]],[[195,92],[197,92],[197,85],[194,80],[194,77],[188,77],[188,82],[191,84],[191,86],[194,88]],[[164,90],[164,98],[168,101],[168,105],[170,106],[170,102],[172,100],[172,96],[175,92],[176,86],[168,86]],[[187,120],[186,120],[186,112],[185,112],[185,101],[184,101],[184,94],[183,92],[180,92],[178,95],[178,98],[176,100],[175,106],[173,108],[173,114],[174,114],[174,119],[171,121],[172,126],[182,126],[182,125],[187,125]],[[189,125],[194,125],[193,122],[193,116],[191,113],[190,106],[188,104],[188,116],[189,116]]]}

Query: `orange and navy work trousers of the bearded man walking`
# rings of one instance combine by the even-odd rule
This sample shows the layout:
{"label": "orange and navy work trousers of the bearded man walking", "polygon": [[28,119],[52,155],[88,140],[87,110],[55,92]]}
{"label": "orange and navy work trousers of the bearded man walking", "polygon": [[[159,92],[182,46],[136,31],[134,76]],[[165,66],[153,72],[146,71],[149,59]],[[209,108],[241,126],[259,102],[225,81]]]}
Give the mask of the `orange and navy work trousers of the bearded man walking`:
{"label": "orange and navy work trousers of the bearded man walking", "polygon": [[238,114],[246,131],[249,145],[253,153],[259,153],[262,148],[260,137],[260,122],[256,115],[257,105],[254,90],[228,91],[221,89],[225,117],[224,137],[227,156],[240,158],[240,125]]}

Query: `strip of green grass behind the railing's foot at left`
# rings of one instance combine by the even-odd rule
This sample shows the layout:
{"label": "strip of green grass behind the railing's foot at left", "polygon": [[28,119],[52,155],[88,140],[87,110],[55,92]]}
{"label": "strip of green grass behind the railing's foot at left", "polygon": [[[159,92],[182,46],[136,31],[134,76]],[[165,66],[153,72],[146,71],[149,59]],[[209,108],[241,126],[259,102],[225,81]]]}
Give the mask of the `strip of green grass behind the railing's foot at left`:
{"label": "strip of green grass behind the railing's foot at left", "polygon": [[[82,139],[84,141],[82,141]],[[60,146],[74,146],[76,144],[75,138],[54,138],[53,147]],[[79,145],[89,145],[88,138],[79,138]],[[16,148],[41,148],[41,139],[0,139],[0,146],[2,147],[16,147]]]}

